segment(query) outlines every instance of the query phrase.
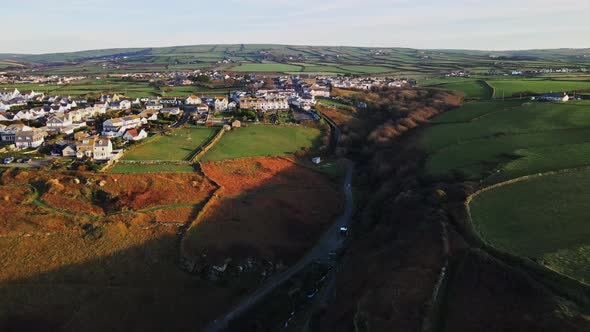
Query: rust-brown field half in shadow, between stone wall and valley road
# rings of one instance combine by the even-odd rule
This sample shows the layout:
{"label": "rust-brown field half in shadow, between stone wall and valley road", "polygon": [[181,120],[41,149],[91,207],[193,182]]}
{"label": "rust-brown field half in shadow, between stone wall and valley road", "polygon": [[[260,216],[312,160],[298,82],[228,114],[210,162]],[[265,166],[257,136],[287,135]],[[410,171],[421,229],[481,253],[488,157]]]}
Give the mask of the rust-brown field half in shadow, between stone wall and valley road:
{"label": "rust-brown field half in shadow, between stone wall and valley road", "polygon": [[343,209],[338,184],[286,159],[210,162],[203,171],[221,190],[183,248],[191,256],[206,253],[209,264],[228,257],[293,263]]}

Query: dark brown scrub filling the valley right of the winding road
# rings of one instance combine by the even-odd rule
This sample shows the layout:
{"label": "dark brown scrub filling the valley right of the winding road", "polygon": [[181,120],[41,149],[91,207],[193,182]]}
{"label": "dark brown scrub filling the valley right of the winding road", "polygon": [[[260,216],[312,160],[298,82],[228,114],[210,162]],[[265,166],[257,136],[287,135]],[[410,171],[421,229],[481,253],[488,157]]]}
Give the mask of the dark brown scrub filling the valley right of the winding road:
{"label": "dark brown scrub filling the valley right of the winding road", "polygon": [[[356,162],[355,187],[365,192],[366,199],[359,203],[355,226],[359,236],[345,255],[335,297],[318,313],[314,330],[588,328],[579,308],[522,271],[485,255],[459,258],[469,245],[447,217],[445,208],[451,202],[440,195],[437,184],[419,178],[425,156],[413,150],[411,136],[400,135],[457,106],[460,96],[430,89],[336,90],[335,94],[368,105],[354,114],[342,111],[341,119],[352,118],[341,125],[344,135],[339,142],[339,152]],[[431,311],[431,296],[447,259],[451,281],[448,288],[443,285],[438,307],[442,320],[438,320]]]}

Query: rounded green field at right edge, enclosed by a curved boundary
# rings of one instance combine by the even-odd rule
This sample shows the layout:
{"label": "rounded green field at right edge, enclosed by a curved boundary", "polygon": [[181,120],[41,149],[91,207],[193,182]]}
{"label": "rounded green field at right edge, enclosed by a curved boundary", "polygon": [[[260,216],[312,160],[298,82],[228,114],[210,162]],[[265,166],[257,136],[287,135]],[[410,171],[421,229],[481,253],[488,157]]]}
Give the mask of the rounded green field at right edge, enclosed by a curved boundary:
{"label": "rounded green field at right edge, enclosed by a curved boundary", "polygon": [[490,244],[589,283],[588,202],[590,171],[578,171],[490,190],[470,206]]}

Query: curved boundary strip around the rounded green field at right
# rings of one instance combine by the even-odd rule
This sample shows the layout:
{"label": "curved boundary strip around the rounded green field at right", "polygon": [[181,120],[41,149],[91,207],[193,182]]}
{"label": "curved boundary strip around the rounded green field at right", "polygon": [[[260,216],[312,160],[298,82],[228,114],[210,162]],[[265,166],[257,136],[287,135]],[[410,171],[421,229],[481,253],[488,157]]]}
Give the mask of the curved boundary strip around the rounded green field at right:
{"label": "curved boundary strip around the rounded green field at right", "polygon": [[568,174],[587,170],[590,170],[590,166],[525,175],[508,181],[500,182],[491,186],[487,186],[475,191],[474,193],[470,194],[465,198],[462,204],[462,213],[461,215],[456,216],[458,217],[458,219],[463,219],[464,221],[463,223],[459,222],[459,227],[465,233],[465,239],[475,247],[484,250],[493,257],[501,259],[502,261],[512,266],[521,268],[522,270],[526,271],[529,275],[531,275],[531,277],[533,277],[535,280],[537,280],[544,286],[548,287],[554,293],[559,294],[560,296],[563,296],[565,298],[575,300],[576,302],[582,303],[583,305],[590,305],[590,285],[578,279],[574,279],[568,275],[562,274],[547,266],[538,264],[530,258],[522,257],[504,251],[502,249],[498,249],[490,243],[486,242],[486,240],[482,236],[480,236],[479,232],[477,231],[477,227],[475,226],[471,214],[471,208],[469,206],[474,198],[490,190],[545,176]]}

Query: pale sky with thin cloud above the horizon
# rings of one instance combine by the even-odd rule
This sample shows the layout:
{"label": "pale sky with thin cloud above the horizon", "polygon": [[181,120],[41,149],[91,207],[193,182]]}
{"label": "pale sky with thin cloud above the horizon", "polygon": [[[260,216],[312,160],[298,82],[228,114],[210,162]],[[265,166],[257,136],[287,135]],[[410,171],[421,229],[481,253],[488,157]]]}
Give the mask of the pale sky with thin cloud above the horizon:
{"label": "pale sky with thin cloud above the horizon", "polygon": [[0,53],[197,44],[590,47],[589,0],[0,0]]}

